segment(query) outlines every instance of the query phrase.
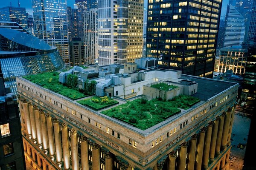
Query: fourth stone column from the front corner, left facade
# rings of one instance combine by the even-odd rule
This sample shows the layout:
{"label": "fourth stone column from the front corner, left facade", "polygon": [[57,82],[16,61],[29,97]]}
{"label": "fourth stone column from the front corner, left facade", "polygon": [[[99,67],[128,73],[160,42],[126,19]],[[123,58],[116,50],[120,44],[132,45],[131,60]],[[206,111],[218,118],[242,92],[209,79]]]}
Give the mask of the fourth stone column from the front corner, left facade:
{"label": "fourth stone column from the front corner, left facade", "polygon": [[81,141],[81,167],[82,167],[82,170],[89,170],[87,137],[81,136],[80,141]]}

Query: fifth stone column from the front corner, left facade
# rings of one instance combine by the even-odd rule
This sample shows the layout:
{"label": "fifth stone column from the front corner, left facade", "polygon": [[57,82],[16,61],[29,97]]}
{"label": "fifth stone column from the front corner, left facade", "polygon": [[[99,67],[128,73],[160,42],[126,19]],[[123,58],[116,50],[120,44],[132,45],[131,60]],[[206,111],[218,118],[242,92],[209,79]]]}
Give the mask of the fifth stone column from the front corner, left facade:
{"label": "fifth stone column from the front corner, left facade", "polygon": [[77,133],[75,129],[70,130],[70,137],[71,137],[72,170],[79,170]]}

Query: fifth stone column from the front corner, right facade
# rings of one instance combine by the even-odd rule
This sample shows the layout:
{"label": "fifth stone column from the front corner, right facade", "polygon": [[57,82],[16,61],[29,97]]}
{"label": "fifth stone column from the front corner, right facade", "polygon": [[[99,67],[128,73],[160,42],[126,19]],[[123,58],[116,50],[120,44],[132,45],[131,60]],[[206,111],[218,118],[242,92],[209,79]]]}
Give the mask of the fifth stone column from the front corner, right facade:
{"label": "fifth stone column from the front corner, right facade", "polygon": [[201,167],[202,167],[205,130],[206,128],[203,127],[199,133],[198,147],[197,147],[198,154],[196,156],[196,165],[195,165],[196,170],[201,170]]}

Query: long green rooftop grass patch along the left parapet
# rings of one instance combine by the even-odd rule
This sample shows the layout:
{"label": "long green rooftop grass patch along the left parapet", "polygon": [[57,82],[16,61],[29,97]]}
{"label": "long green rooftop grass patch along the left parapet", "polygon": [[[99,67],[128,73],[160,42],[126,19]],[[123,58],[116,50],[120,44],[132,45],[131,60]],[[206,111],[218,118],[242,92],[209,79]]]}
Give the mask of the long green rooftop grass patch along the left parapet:
{"label": "long green rooftop grass patch along the left parapet", "polygon": [[71,89],[67,86],[62,85],[59,82],[59,73],[58,72],[46,72],[34,75],[23,76],[23,78],[28,79],[29,81],[41,85],[43,88],[54,91],[55,93],[66,96],[70,99],[76,100],[87,95],[79,92],[78,89]]}

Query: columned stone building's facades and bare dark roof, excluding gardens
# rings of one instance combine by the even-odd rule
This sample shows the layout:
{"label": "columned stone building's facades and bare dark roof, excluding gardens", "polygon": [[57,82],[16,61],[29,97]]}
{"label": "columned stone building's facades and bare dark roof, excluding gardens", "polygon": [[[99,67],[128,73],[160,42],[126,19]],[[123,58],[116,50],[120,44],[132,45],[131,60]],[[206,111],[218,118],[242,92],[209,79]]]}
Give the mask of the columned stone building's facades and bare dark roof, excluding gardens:
{"label": "columned stone building's facades and bare dark roof, excluding gardens", "polygon": [[228,170],[239,85],[180,79],[201,101],[140,130],[18,77],[26,158],[43,170]]}

